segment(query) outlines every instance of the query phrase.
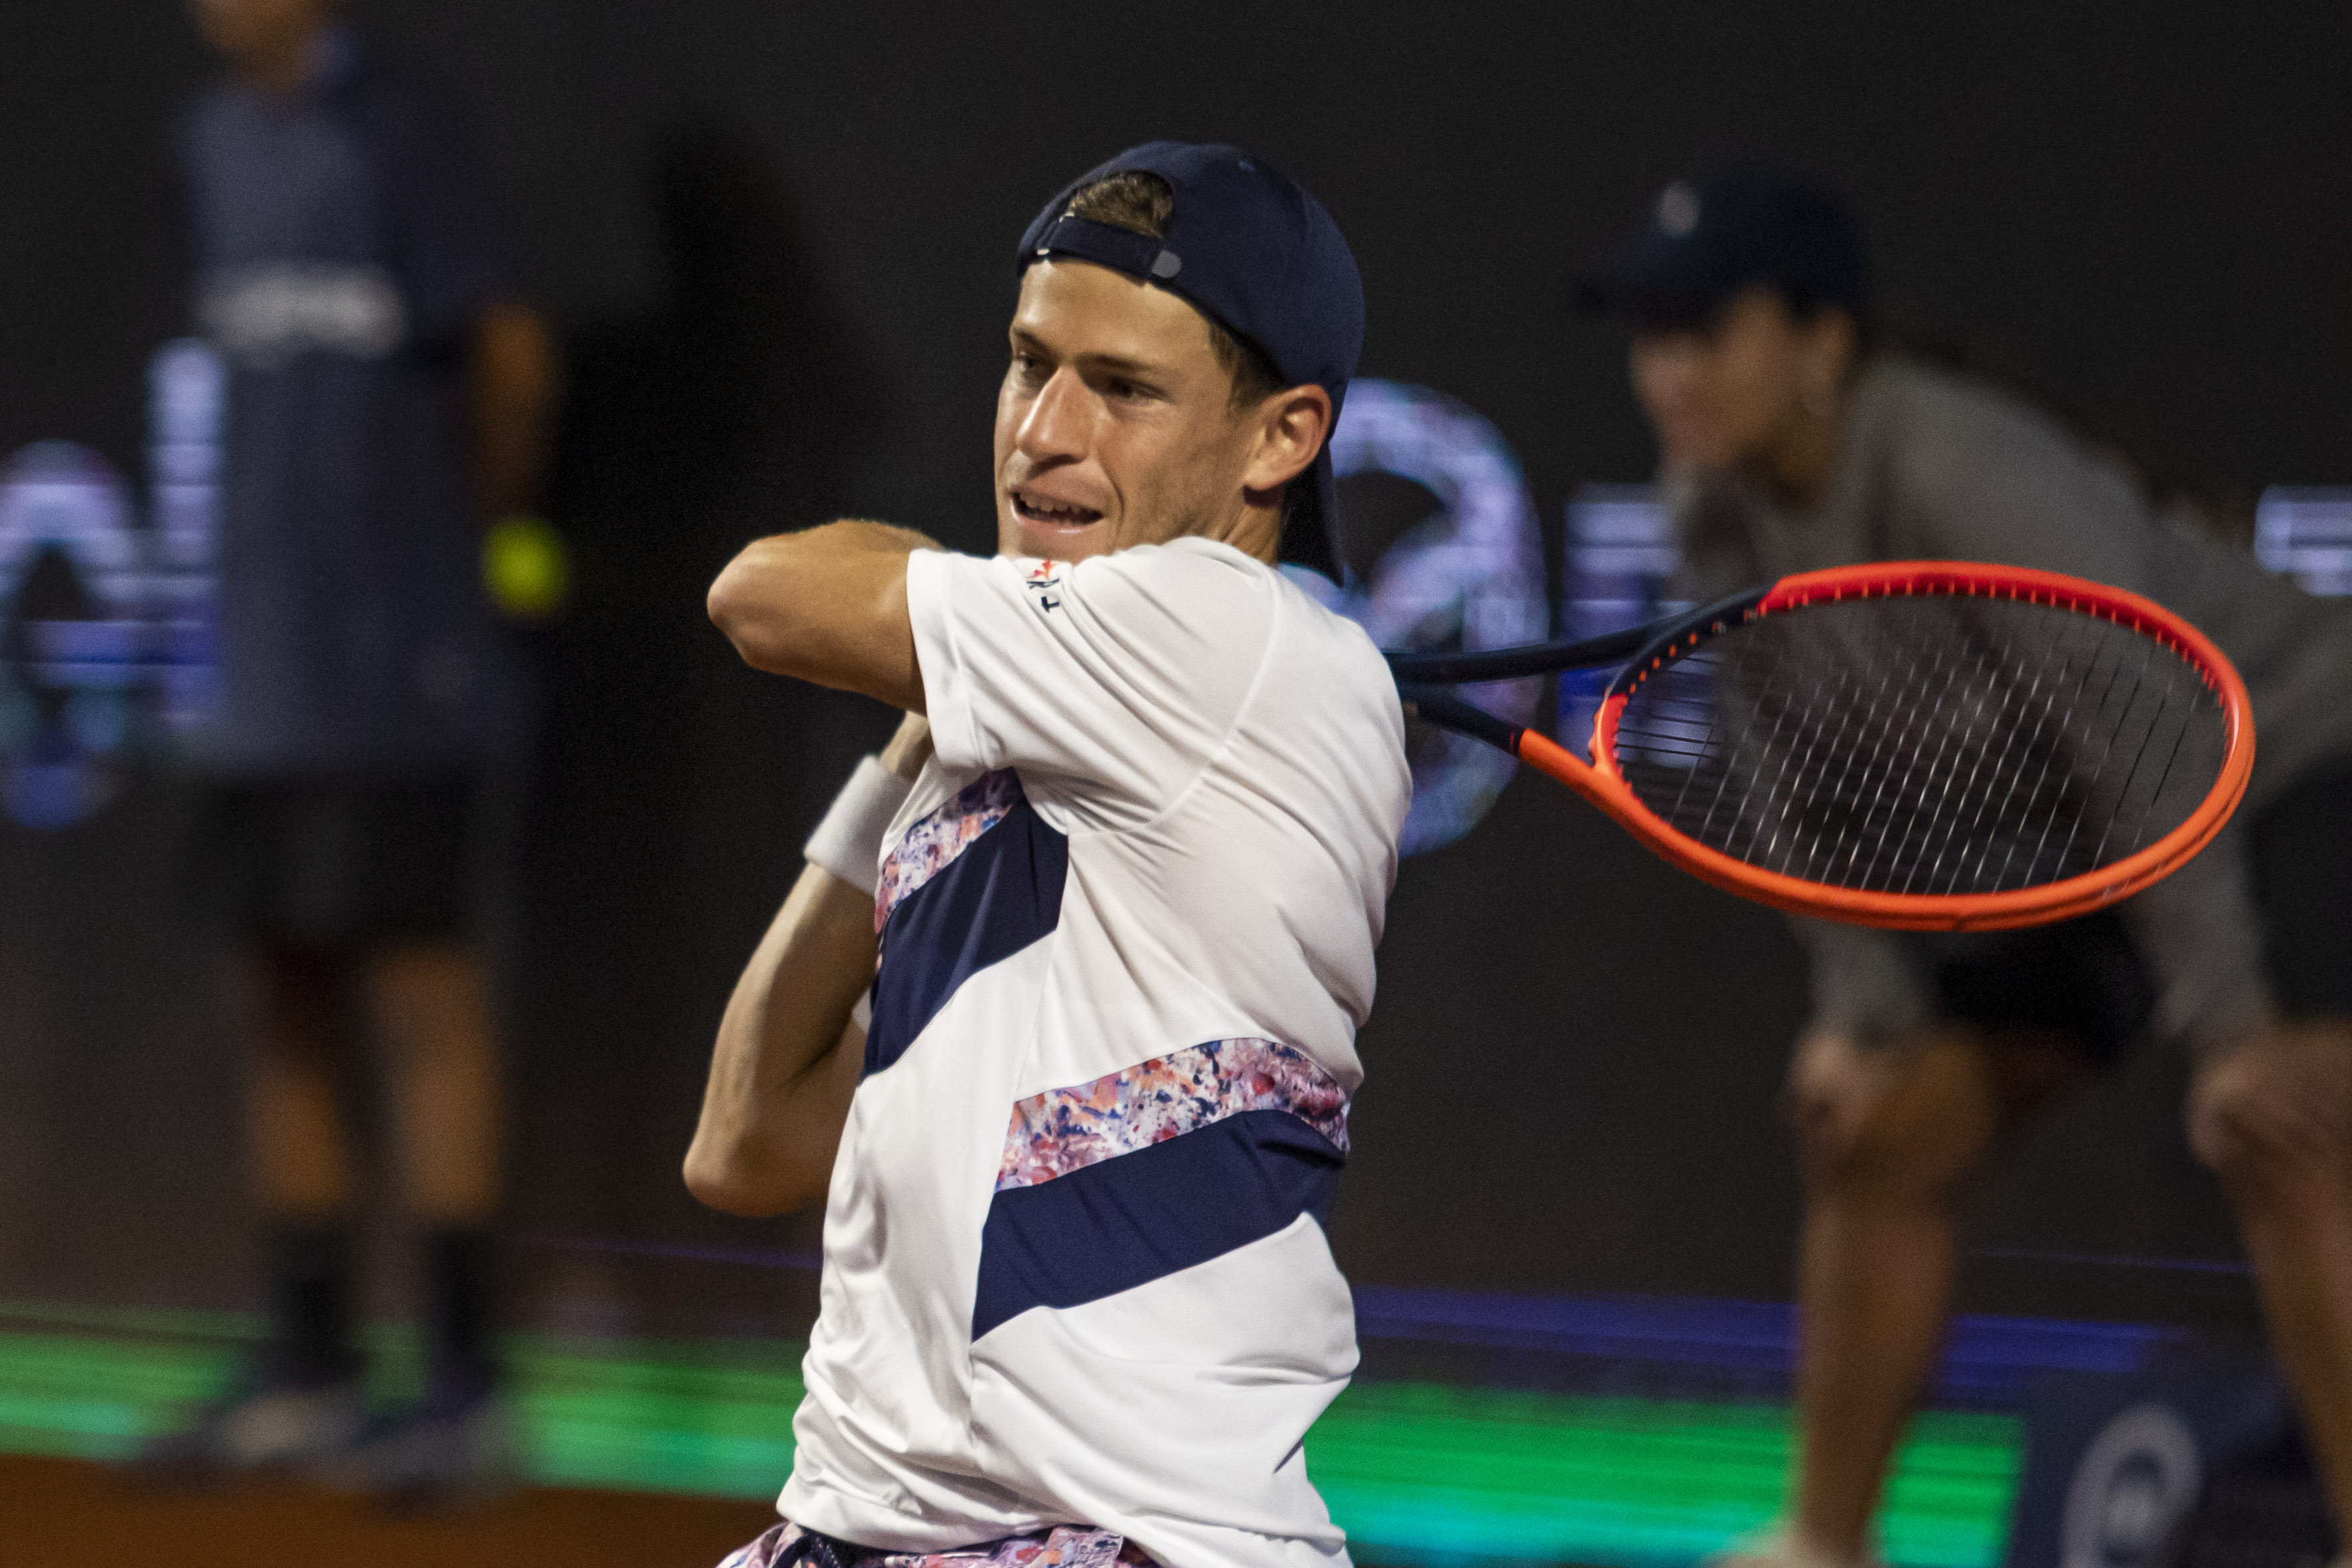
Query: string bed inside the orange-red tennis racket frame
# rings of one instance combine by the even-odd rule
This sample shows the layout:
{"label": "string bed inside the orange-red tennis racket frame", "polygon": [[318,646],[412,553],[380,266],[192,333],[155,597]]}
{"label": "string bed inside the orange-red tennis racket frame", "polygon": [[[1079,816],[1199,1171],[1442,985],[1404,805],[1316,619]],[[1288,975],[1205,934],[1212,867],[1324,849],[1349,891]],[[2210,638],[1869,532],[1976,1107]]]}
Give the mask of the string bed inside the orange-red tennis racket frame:
{"label": "string bed inside the orange-red tennis racket frame", "polygon": [[1736,860],[1943,896],[2136,853],[2197,809],[2225,743],[2204,675],[2129,625],[1919,595],[1726,628],[1632,689],[1616,762]]}

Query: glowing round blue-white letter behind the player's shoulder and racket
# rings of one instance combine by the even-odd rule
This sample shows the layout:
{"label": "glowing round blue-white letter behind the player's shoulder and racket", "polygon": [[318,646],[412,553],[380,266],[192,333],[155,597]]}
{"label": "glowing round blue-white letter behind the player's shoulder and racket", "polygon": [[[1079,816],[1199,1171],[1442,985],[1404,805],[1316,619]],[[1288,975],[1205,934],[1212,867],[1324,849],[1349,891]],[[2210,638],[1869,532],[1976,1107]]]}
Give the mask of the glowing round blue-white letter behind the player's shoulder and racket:
{"label": "glowing round blue-white letter behind the player's shoulder and racket", "polygon": [[[1477,411],[1402,381],[1355,381],[1331,433],[1341,477],[1388,473],[1437,496],[1437,515],[1416,524],[1345,588],[1312,571],[1291,576],[1317,599],[1359,623],[1383,649],[1505,649],[1536,642],[1550,625],[1543,590],[1543,534],[1519,458]],[[1543,679],[1463,686],[1489,712],[1529,724]],[[1414,809],[1404,853],[1439,849],[1470,832],[1519,766],[1484,741],[1437,731],[1411,745]]]}

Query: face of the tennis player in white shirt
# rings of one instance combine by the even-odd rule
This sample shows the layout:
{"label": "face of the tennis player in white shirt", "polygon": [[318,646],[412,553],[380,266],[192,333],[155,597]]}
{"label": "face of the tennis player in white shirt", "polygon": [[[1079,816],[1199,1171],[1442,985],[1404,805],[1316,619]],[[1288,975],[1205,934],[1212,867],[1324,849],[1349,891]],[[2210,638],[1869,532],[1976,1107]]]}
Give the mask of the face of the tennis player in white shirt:
{"label": "face of the tennis player in white shirt", "polygon": [[995,456],[997,548],[1063,562],[1221,536],[1254,473],[1209,322],[1084,261],[1021,277]]}

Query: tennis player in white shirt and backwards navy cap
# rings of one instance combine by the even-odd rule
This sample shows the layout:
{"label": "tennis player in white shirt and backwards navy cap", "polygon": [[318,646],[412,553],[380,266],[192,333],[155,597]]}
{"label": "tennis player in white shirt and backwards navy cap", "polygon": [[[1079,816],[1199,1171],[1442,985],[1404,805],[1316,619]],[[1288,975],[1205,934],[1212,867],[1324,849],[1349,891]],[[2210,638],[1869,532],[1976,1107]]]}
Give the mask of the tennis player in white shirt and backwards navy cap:
{"label": "tennis player in white shirt and backwards navy cap", "polygon": [[835,522],[710,590],[755,668],[924,715],[811,837],[687,1154],[717,1208],[826,1197],[786,1523],[729,1563],[1343,1563],[1301,1439],[1355,1366],[1322,1222],[1411,783],[1378,651],[1275,562],[1334,569],[1362,284],[1305,190],[1167,141],[1016,268],[1000,555]]}

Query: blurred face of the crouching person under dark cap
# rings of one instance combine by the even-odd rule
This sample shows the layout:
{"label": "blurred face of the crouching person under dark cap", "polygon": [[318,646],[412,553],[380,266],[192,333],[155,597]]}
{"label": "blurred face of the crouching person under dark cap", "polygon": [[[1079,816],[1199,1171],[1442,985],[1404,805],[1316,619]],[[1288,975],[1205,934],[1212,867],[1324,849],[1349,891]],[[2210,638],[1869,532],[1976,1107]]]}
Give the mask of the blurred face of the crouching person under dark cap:
{"label": "blurred face of the crouching person under dark cap", "polygon": [[1769,289],[1738,294],[1689,331],[1635,331],[1632,390],[1665,468],[1736,468],[1766,458],[1809,409],[1837,404],[1844,315],[1790,315]]}

